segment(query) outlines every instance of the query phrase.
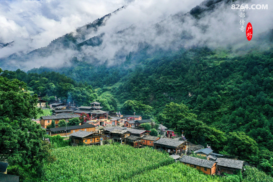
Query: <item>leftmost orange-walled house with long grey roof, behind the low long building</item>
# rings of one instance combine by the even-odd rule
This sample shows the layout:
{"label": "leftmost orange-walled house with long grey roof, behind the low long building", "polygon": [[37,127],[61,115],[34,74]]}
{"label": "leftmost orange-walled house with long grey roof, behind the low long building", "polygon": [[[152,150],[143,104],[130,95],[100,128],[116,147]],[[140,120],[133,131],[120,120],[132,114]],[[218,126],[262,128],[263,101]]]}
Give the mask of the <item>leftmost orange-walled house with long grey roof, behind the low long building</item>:
{"label": "leftmost orange-walled house with long grey roof, behind the low long building", "polygon": [[71,118],[78,118],[79,116],[76,114],[66,114],[66,115],[56,115],[56,116],[41,116],[41,125],[42,127],[45,127],[47,125],[50,125],[52,120],[55,120],[55,125],[56,127],[58,127],[58,123],[60,120],[64,119],[64,120],[69,120]]}

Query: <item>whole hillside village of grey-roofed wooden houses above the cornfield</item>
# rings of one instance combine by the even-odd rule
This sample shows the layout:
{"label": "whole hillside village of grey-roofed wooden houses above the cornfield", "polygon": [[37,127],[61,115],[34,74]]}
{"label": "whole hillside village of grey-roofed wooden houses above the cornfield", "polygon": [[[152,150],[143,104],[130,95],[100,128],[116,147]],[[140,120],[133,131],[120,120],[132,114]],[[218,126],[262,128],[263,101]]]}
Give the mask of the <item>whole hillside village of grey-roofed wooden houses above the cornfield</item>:
{"label": "whole hillside village of grey-roofed wooden houses above the cornfield", "polygon": [[[103,111],[100,104],[95,101],[91,102],[90,106],[75,107],[70,103],[56,101],[49,104],[53,115],[41,116],[36,122],[41,124],[50,136],[69,137],[73,146],[118,142],[134,148],[152,147],[154,150],[169,153],[175,162],[182,162],[205,174],[236,174],[238,170],[243,172],[246,163],[238,160],[238,156],[217,154],[213,152],[213,146],[194,145],[186,139],[184,131],[180,135],[162,124],[157,124],[159,126],[157,134],[151,136],[151,131],[145,130],[141,125],[143,123],[155,125],[151,119],[143,120],[142,116],[136,113],[124,115],[119,111]],[[38,100],[37,107],[46,109],[47,105],[47,101]],[[79,125],[58,127],[60,120],[69,122],[71,118],[81,117],[83,121]],[[55,128],[48,129],[52,122],[55,122]]]}

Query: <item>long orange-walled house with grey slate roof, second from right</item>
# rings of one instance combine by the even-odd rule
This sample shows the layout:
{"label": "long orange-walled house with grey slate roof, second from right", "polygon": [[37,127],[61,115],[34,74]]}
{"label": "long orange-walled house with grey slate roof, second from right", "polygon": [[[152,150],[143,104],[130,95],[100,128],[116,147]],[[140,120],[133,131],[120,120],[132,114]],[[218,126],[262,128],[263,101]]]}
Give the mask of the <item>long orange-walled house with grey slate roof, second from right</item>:
{"label": "long orange-walled house with grey slate roof, second from right", "polygon": [[185,155],[182,156],[181,159],[179,159],[179,161],[195,169],[198,169],[205,174],[213,175],[216,173],[215,161],[208,161],[206,159],[185,156]]}

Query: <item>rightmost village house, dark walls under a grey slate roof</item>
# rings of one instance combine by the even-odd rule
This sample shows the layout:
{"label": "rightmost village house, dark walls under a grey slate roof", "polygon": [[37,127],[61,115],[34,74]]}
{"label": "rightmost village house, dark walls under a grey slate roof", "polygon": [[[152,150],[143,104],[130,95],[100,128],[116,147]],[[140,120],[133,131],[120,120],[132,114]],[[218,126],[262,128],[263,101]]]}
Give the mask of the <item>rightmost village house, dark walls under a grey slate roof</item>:
{"label": "rightmost village house, dark walls under a grey slate roof", "polygon": [[220,158],[216,159],[217,162],[217,171],[218,174],[227,173],[227,174],[236,174],[238,170],[243,169],[244,161]]}

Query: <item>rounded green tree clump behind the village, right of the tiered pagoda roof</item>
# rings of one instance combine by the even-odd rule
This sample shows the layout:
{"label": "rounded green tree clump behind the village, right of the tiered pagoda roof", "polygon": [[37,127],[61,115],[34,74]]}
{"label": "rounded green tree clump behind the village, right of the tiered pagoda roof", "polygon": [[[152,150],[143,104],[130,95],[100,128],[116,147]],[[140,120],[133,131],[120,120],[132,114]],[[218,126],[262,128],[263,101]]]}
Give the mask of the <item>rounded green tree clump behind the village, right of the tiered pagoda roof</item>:
{"label": "rounded green tree clump behind the village, right of the tiered pagoda roof", "polygon": [[137,115],[141,115],[144,118],[151,118],[153,108],[149,105],[143,104],[142,101],[127,100],[121,107],[121,111],[124,114],[132,115],[134,112]]}

